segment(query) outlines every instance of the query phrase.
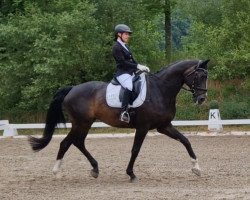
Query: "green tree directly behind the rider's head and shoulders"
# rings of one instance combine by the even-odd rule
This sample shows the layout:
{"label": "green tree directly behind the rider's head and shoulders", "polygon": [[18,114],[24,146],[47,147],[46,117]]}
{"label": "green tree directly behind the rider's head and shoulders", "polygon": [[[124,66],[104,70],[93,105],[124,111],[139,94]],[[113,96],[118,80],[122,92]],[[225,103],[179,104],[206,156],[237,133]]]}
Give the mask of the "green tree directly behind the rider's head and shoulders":
{"label": "green tree directly behind the rider's head and shoulders", "polygon": [[[119,1],[119,0],[92,0],[97,11],[95,13],[102,35],[102,44],[105,49],[107,64],[115,66],[111,55],[116,24],[125,23],[131,27],[133,34],[130,47],[135,59],[148,65],[151,70],[159,69],[164,58],[161,49],[163,32],[159,29],[159,16],[149,13],[144,0]],[[118,9],[119,8],[119,9]],[[159,31],[160,30],[160,31]],[[113,71],[115,67],[113,67]]]}

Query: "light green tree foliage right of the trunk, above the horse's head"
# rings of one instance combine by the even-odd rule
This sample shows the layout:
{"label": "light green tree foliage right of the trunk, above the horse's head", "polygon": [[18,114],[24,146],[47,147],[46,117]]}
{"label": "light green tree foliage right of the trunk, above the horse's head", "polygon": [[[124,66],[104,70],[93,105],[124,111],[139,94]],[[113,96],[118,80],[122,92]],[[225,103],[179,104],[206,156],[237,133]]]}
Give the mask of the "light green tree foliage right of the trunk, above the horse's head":
{"label": "light green tree foliage right of the trunk, above the horse's head", "polygon": [[186,55],[211,58],[213,65],[211,77],[214,79],[249,76],[250,2],[247,0],[196,2],[197,5],[189,7],[188,10],[192,27],[188,36],[183,37]]}

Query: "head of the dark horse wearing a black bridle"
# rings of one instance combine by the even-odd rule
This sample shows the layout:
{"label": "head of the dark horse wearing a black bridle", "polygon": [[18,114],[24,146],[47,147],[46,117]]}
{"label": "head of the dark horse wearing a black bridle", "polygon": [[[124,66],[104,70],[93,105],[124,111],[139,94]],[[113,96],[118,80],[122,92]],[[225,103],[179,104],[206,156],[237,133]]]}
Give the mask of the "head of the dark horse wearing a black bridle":
{"label": "head of the dark horse wearing a black bridle", "polygon": [[199,61],[197,65],[185,71],[185,83],[193,94],[194,102],[202,104],[207,97],[207,63]]}

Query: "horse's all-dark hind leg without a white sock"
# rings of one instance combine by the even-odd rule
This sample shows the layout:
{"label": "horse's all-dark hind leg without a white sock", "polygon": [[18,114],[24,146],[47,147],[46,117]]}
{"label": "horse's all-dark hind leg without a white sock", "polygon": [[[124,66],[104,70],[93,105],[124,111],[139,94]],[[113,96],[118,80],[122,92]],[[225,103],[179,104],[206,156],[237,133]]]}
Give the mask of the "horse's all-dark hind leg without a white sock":
{"label": "horse's all-dark hind leg without a white sock", "polygon": [[82,125],[81,130],[79,130],[79,133],[74,135],[73,144],[86,156],[91,166],[93,167],[93,169],[91,170],[91,175],[94,178],[97,178],[99,175],[98,163],[85,147],[85,139],[90,127],[91,125],[89,124],[86,124],[85,126]]}

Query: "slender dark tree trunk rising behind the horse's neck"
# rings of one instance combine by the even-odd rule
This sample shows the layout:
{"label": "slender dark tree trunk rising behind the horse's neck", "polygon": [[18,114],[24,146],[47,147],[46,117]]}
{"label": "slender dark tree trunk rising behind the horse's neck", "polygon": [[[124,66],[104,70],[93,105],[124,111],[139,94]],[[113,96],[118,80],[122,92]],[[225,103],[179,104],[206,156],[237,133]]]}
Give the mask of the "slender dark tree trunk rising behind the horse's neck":
{"label": "slender dark tree trunk rising behind the horse's neck", "polygon": [[171,5],[170,0],[165,0],[165,57],[168,62],[171,62],[171,40],[172,40],[172,33],[171,33]]}

